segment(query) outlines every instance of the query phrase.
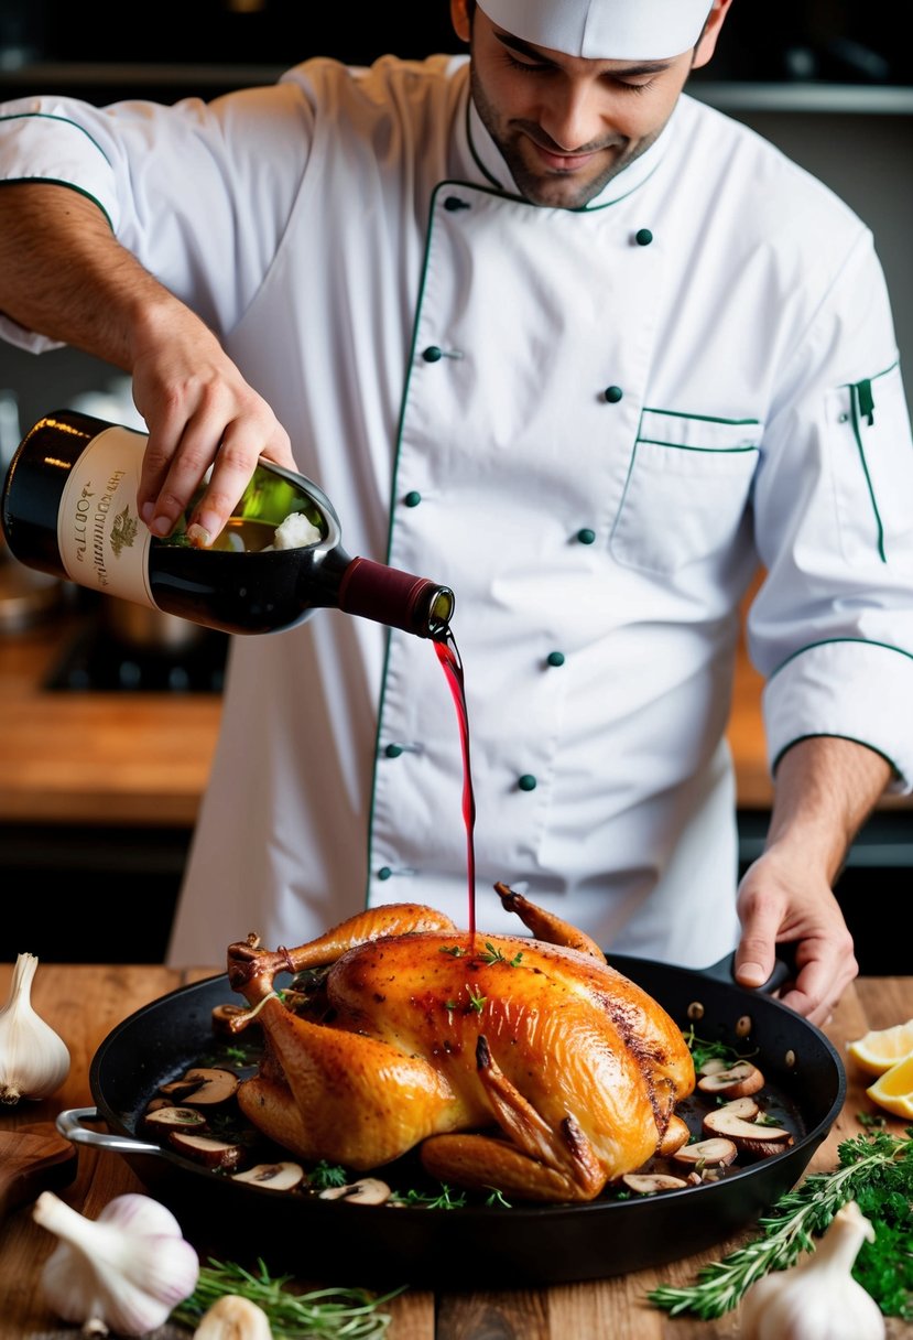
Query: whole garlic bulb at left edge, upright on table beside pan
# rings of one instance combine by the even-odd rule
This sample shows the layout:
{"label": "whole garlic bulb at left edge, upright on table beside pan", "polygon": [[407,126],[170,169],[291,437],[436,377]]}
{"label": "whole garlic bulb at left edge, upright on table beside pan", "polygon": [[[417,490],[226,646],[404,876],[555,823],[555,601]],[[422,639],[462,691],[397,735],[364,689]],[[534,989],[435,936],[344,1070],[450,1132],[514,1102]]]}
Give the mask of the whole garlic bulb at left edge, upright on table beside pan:
{"label": "whole garlic bulb at left edge, upright on table beside pan", "polygon": [[0,1103],[50,1097],[70,1073],[70,1052],[32,1009],[35,954],[19,954],[9,1000],[0,1009]]}

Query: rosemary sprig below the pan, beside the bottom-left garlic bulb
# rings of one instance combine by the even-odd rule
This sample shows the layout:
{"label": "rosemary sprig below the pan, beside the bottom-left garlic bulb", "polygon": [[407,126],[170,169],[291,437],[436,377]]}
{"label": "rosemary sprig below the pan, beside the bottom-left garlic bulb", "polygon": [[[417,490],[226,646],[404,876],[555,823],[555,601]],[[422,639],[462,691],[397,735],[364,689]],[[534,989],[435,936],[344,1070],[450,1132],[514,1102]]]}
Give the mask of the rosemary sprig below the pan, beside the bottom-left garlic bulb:
{"label": "rosemary sprig below the pan, beside the bottom-left garlic bulb", "polygon": [[240,1294],[266,1313],[276,1340],[379,1340],[391,1323],[390,1313],[379,1309],[406,1288],[392,1289],[378,1297],[365,1289],[312,1289],[292,1293],[286,1289],[292,1276],[270,1277],[262,1258],[258,1273],[252,1274],[234,1261],[214,1261],[201,1266],[197,1288],[171,1313],[170,1320],[195,1327],[218,1298]]}

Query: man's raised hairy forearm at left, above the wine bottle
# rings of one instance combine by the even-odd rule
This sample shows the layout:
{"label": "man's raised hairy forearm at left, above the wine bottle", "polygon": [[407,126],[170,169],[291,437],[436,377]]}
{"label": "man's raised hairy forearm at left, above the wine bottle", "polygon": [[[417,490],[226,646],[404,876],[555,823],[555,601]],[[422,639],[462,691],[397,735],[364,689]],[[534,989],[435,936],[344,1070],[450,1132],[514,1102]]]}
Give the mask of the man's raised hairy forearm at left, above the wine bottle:
{"label": "man's raised hairy forearm at left, above the wine bottle", "polygon": [[0,311],[19,326],[131,371],[150,332],[181,307],[79,192],[0,189]]}

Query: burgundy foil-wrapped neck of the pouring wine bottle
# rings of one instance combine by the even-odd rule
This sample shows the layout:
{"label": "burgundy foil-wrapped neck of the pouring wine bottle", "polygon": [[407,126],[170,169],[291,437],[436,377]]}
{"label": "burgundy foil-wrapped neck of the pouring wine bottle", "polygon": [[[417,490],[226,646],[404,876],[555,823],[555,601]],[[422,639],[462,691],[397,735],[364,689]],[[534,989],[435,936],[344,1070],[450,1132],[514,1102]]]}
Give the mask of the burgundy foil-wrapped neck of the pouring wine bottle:
{"label": "burgundy foil-wrapped neck of the pouring wine bottle", "polygon": [[450,626],[454,594],[428,578],[416,578],[371,559],[352,559],[339,584],[339,608],[439,641]]}

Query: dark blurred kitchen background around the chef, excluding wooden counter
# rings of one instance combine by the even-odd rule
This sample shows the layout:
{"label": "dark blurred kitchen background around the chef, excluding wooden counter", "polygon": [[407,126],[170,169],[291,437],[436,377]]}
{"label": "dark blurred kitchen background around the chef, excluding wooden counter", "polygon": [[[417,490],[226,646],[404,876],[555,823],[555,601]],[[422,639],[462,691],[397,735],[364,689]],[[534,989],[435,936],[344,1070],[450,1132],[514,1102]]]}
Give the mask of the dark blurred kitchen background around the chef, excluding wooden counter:
{"label": "dark blurred kitchen background around the chef, excluding wooden counter", "polygon": [[[718,52],[692,76],[689,91],[778,143],[872,226],[893,295],[910,395],[913,55],[905,15],[904,4],[863,0],[734,0]],[[131,96],[209,98],[272,82],[311,55],[368,63],[387,51],[422,58],[456,50],[447,0],[357,8],[307,0],[157,0],[130,13],[122,0],[0,0],[4,99],[29,92],[71,92],[99,105]],[[71,350],[35,358],[0,343],[0,470],[20,431],[43,413],[78,402],[129,422],[129,382],[116,370]],[[3,560],[0,548],[0,578]],[[96,603],[68,592],[60,646],[43,690],[75,697],[218,694],[224,646],[212,639],[178,638],[149,654],[131,645],[122,655],[119,646],[115,657],[110,642],[98,641],[98,628]],[[12,683],[24,663],[29,636],[15,620],[0,623],[0,686]],[[0,773],[9,777],[16,760],[3,750],[0,725]],[[743,808],[739,824],[746,863],[759,850],[767,813]],[[98,823],[87,825],[0,813],[4,887],[28,890],[40,878],[46,888],[59,888],[71,913],[55,921],[44,903],[8,896],[4,955],[28,949],[50,961],[159,961],[189,839],[187,824],[166,825],[154,815],[131,825],[99,812]],[[909,970],[902,937],[885,943],[873,926],[890,923],[892,906],[909,899],[912,874],[913,809],[880,808],[838,883],[863,972]],[[124,890],[134,913],[142,911],[141,937],[124,926]],[[872,915],[876,900],[884,917]],[[74,909],[83,915],[75,917]]]}

